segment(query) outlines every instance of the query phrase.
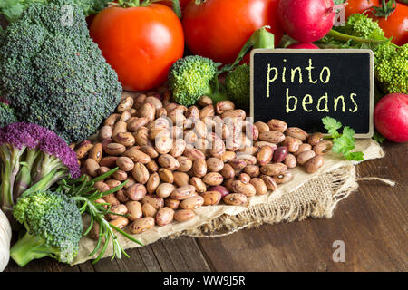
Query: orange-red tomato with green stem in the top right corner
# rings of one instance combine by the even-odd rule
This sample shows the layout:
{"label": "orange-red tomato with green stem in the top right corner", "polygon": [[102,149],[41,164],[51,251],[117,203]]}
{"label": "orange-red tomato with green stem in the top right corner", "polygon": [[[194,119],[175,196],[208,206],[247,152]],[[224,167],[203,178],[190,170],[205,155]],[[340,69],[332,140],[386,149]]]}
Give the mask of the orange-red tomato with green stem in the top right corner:
{"label": "orange-red tomato with green stem in the top right corner", "polygon": [[392,14],[385,17],[370,17],[378,20],[378,25],[384,30],[385,37],[393,37],[392,42],[397,45],[408,43],[408,5],[397,3]]}

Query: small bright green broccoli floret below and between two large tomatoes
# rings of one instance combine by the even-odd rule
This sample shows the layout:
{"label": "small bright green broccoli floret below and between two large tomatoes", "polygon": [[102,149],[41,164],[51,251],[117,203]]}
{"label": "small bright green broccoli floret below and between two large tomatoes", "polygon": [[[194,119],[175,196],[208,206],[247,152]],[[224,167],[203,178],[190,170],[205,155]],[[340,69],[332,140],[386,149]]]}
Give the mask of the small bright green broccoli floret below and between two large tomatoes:
{"label": "small bright green broccoli floret below and between two large tomatoes", "polygon": [[169,87],[173,100],[184,106],[211,94],[209,82],[218,72],[218,63],[199,55],[189,55],[174,63],[169,72]]}

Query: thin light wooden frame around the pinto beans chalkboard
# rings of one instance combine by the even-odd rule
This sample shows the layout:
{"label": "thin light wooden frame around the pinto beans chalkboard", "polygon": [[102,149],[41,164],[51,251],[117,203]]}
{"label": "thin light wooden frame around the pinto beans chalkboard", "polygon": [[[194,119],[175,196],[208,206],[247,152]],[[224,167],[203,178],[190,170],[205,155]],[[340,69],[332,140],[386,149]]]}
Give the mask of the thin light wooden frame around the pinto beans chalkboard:
{"label": "thin light wooden frame around the pinto beans chalkboard", "polygon": [[254,117],[254,55],[256,53],[368,53],[370,55],[370,124],[366,134],[355,134],[355,138],[372,138],[374,134],[374,53],[369,49],[254,49],[250,54],[250,109]]}

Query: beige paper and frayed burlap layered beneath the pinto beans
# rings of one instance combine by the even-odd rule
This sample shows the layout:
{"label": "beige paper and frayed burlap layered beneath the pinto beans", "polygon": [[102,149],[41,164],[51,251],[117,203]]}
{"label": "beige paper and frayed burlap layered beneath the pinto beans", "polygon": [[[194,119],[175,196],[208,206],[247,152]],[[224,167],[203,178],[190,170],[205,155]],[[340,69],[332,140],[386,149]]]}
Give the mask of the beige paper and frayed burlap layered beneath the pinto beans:
{"label": "beige paper and frayed burlap layered beneath the pinto beans", "polygon": [[[384,157],[384,151],[373,140],[357,140],[356,150],[364,151],[365,160]],[[201,207],[195,210],[196,217],[189,221],[156,226],[133,237],[148,245],[165,237],[219,237],[264,223],[292,222],[308,217],[331,218],[337,203],[358,188],[355,165],[356,162],[330,153],[325,156],[325,166],[318,172],[307,174],[302,168],[292,169],[292,181],[267,195],[251,198],[248,208]],[[118,239],[124,249],[139,247],[121,235]],[[96,255],[88,256],[94,247],[92,239],[83,237],[80,253],[73,265],[94,258]],[[111,245],[104,256],[112,256]]]}

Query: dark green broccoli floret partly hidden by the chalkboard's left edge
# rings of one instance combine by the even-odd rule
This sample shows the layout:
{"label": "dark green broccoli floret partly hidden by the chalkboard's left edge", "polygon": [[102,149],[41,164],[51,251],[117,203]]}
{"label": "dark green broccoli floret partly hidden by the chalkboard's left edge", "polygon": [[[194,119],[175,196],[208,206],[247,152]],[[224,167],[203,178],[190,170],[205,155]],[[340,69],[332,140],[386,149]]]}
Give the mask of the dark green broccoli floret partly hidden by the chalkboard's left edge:
{"label": "dark green broccoli floret partly hidden by the chalkboard's left edge", "polygon": [[248,110],[250,75],[248,64],[238,65],[232,72],[227,74],[225,86],[228,97],[235,102],[239,108]]}

